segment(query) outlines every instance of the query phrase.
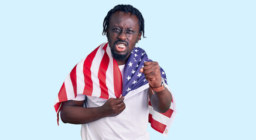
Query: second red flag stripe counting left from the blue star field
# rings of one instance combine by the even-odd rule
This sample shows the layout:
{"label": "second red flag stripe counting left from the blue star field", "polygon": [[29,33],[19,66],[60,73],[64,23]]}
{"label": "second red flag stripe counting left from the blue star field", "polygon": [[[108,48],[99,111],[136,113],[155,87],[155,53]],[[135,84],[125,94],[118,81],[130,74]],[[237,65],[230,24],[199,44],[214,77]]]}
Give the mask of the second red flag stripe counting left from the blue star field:
{"label": "second red flag stripe counting left from the blue star field", "polygon": [[100,97],[104,99],[108,99],[108,88],[106,86],[106,72],[107,72],[109,63],[110,63],[110,58],[108,57],[108,54],[105,52],[100,62],[100,68],[98,69],[98,80],[99,80],[100,89],[101,89]]}

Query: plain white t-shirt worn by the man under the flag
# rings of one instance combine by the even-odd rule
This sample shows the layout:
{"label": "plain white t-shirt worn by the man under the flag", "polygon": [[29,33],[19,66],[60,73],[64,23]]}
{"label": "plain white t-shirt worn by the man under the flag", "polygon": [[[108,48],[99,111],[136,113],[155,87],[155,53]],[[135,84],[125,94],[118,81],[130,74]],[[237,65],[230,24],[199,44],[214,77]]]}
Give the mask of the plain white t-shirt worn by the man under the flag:
{"label": "plain white t-shirt worn by the man under the flag", "polygon": [[[120,65],[123,75],[124,66]],[[128,93],[129,94],[129,93]],[[86,100],[86,107],[102,106],[107,99],[86,95],[77,95],[74,100]],[[81,137],[83,140],[95,139],[129,139],[148,140],[148,89],[136,93],[128,99],[124,99],[125,109],[114,117],[104,117],[97,121],[81,125]]]}

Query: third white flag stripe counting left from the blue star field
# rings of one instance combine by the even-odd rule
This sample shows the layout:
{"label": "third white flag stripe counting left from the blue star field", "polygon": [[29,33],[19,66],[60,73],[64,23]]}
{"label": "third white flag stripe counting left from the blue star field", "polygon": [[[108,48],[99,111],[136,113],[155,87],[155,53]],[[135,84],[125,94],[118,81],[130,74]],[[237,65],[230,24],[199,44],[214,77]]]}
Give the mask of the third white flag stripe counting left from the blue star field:
{"label": "third white flag stripe counting left from the blue star field", "polygon": [[[86,59],[84,59],[84,60],[86,60]],[[80,62],[78,62],[77,66],[76,66],[77,95],[83,94],[83,92],[84,92],[84,85],[85,85],[84,72],[83,72],[84,60],[81,60]]]}

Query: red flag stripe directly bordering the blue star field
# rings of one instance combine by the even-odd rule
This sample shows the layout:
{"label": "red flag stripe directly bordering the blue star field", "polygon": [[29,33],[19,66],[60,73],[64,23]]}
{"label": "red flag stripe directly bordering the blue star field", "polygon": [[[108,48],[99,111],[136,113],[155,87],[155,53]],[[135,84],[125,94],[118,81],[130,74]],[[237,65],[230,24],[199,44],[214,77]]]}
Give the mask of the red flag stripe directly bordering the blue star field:
{"label": "red flag stripe directly bordering the blue star field", "polygon": [[115,96],[120,97],[122,94],[122,74],[118,67],[117,61],[113,59],[113,75]]}

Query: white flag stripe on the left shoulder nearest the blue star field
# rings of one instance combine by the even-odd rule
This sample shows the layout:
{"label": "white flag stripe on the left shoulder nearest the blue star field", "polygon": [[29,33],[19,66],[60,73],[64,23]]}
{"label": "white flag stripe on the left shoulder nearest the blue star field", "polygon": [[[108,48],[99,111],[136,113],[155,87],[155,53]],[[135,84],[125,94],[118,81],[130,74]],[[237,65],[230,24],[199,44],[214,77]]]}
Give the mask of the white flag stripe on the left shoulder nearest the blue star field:
{"label": "white flag stripe on the left shoulder nearest the blue star field", "polygon": [[108,98],[115,98],[115,90],[114,90],[114,74],[113,74],[113,58],[111,54],[110,47],[107,46],[107,54],[110,58],[110,63],[108,64],[108,69],[106,71],[106,86],[108,87]]}

